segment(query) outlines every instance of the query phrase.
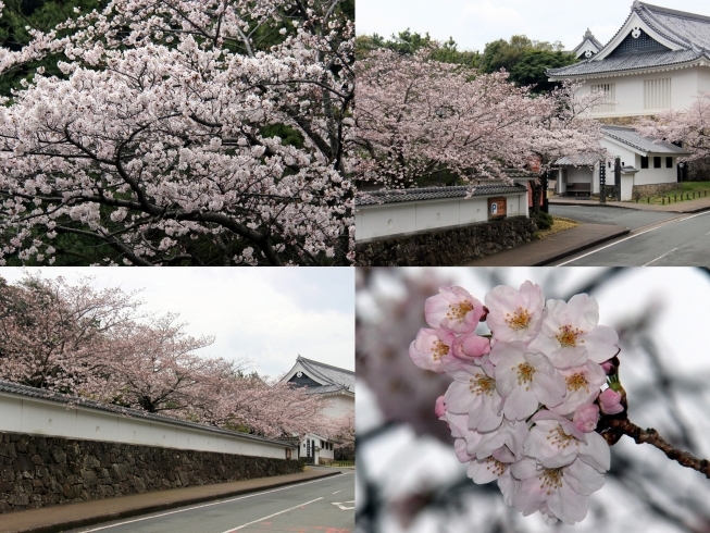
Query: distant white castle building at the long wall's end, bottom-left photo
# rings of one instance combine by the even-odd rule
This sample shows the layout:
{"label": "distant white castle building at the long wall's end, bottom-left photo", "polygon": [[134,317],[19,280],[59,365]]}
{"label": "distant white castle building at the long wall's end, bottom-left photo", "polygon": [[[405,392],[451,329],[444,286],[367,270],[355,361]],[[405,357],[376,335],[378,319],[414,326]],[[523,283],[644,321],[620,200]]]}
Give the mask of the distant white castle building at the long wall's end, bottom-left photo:
{"label": "distant white castle building at the long wall's end, bottom-left photo", "polygon": [[[296,364],[282,381],[308,387],[308,394],[323,395],[331,400],[331,407],[323,412],[327,418],[337,419],[354,411],[354,372],[350,370],[298,356]],[[300,457],[314,464],[332,461],[335,458],[334,445],[323,435],[306,435],[300,443]]]}

